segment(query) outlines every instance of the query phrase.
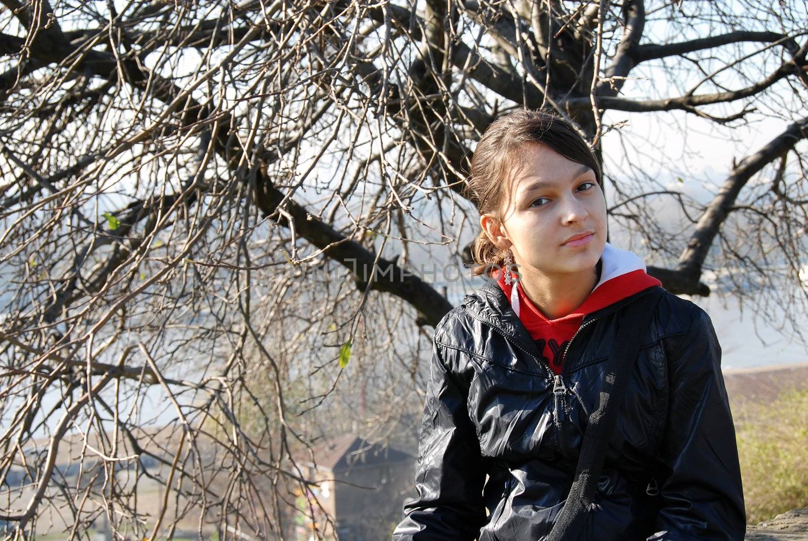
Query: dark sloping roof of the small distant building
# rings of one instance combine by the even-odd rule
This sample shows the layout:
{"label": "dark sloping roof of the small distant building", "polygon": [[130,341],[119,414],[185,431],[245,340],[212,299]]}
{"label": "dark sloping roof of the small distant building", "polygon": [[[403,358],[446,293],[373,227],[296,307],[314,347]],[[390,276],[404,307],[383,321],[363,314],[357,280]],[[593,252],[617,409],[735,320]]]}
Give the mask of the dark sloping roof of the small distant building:
{"label": "dark sloping roof of the small distant building", "polygon": [[[312,454],[314,454],[314,463]],[[382,446],[380,443],[367,442],[356,434],[345,434],[326,440],[312,447],[311,454],[308,450],[295,454],[297,462],[329,471],[404,462],[410,459],[412,459],[410,454],[390,446]]]}

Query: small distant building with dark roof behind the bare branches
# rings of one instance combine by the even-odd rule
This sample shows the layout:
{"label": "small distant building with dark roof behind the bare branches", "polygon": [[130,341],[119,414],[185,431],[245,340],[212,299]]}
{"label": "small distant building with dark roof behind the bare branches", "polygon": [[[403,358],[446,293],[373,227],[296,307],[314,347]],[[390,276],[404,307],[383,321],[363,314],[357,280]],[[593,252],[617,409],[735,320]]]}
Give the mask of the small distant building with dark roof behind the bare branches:
{"label": "small distant building with dark roof behind the bare branches", "polygon": [[312,515],[326,539],[389,539],[413,481],[415,459],[410,454],[347,434],[297,454],[295,461],[307,480],[318,482],[307,497],[298,494],[296,541],[314,539]]}

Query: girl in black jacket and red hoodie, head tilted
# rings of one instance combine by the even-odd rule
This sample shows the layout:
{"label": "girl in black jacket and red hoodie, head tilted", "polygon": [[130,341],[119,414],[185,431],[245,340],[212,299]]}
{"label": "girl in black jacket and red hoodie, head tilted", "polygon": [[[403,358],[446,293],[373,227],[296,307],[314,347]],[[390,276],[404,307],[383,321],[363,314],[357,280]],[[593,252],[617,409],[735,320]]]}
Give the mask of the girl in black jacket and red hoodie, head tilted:
{"label": "girl in black jacket and red hoodie, head tilted", "polygon": [[[474,150],[474,272],[437,325],[415,475],[393,541],[541,541],[561,511],[619,322],[661,283],[606,242],[600,163],[566,120],[521,110]],[[721,347],[663,291],[641,336],[581,539],[742,541]]]}

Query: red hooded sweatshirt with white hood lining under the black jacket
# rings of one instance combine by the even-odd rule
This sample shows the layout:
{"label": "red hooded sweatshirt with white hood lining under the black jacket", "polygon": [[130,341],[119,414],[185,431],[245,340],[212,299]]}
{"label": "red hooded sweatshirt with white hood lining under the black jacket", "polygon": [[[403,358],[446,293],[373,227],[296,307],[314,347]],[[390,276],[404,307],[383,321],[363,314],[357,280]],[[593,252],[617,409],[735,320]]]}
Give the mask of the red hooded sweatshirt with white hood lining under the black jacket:
{"label": "red hooded sweatshirt with white hood lining under the black jacket", "polygon": [[646,274],[646,264],[631,251],[621,250],[606,243],[603,255],[600,256],[600,281],[581,306],[572,313],[558,319],[547,319],[524,294],[521,283],[516,290],[505,283],[503,273],[497,271],[497,283],[507,298],[511,299],[511,308],[519,316],[524,328],[541,351],[550,368],[561,374],[562,353],[566,344],[578,331],[583,316],[598,311],[623,298],[629,297],[652,285],[662,282]]}

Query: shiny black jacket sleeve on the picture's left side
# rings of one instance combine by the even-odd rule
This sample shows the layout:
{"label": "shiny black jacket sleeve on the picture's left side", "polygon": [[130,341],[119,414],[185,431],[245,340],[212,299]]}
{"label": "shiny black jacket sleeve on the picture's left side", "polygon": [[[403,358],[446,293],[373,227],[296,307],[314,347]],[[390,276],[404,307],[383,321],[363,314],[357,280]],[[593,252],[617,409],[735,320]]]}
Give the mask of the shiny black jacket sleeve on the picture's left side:
{"label": "shiny black jacket sleeve on the picture's left side", "polygon": [[393,541],[471,541],[487,522],[485,461],[466,408],[468,389],[444,366],[434,340],[415,471]]}

